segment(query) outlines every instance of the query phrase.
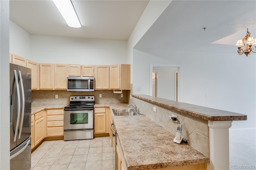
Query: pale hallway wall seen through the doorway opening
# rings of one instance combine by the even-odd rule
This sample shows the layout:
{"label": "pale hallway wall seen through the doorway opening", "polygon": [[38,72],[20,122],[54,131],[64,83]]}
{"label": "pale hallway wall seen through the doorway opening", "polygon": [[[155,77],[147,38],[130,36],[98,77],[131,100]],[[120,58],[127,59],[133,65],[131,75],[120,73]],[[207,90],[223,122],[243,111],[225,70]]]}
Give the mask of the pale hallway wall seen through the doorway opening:
{"label": "pale hallway wall seen through the doorway opening", "polygon": [[156,97],[175,100],[175,71],[177,67],[153,67],[157,72]]}

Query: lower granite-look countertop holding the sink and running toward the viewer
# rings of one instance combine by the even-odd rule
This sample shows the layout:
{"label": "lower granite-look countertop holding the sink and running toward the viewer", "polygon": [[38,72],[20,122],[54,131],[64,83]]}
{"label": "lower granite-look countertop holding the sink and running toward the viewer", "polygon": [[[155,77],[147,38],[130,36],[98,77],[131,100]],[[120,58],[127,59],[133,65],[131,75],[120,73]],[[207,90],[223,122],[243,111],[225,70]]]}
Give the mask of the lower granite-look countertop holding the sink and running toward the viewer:
{"label": "lower granite-look countertop holding the sink and running toward the viewer", "polygon": [[110,107],[128,170],[167,168],[210,161],[188,144],[173,142],[173,134],[143,114],[114,116],[112,109],[130,108],[128,103],[95,104],[94,107]]}

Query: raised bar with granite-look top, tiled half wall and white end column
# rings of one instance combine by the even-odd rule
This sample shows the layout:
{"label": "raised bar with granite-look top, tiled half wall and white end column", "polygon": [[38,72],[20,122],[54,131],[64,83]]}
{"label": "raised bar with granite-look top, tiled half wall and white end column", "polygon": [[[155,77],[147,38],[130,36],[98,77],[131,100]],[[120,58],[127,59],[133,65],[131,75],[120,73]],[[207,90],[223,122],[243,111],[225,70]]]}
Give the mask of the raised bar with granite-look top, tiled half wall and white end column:
{"label": "raised bar with granite-look top, tiled half wall and white end column", "polygon": [[[172,134],[176,132],[177,123],[170,121],[170,116],[177,115],[182,125],[182,136],[188,139],[188,144],[210,158],[207,169],[229,169],[228,130],[232,121],[247,120],[247,115],[148,95],[132,95],[132,103],[140,108],[141,113]],[[156,107],[156,112],[153,107]]]}

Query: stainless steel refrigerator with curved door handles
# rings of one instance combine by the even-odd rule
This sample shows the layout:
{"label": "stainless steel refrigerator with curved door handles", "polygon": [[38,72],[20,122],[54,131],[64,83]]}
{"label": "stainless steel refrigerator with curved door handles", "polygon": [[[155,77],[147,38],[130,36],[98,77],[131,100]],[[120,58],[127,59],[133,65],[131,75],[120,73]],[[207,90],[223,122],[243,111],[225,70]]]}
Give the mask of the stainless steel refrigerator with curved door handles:
{"label": "stainless steel refrigerator with curved door handles", "polygon": [[10,63],[10,169],[31,168],[31,69]]}

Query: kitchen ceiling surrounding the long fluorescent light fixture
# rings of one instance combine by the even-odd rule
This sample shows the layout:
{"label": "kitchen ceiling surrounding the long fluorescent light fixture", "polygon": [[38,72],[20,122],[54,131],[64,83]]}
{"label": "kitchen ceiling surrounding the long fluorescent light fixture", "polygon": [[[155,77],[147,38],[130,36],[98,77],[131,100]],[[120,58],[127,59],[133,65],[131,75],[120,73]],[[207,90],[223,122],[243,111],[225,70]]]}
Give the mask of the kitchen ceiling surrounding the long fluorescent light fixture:
{"label": "kitchen ceiling surrounding the long fluorescent light fixture", "polygon": [[148,0],[72,0],[82,28],[71,28],[52,0],[10,0],[10,20],[32,35],[128,40]]}

